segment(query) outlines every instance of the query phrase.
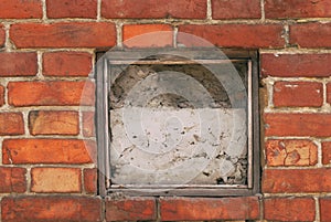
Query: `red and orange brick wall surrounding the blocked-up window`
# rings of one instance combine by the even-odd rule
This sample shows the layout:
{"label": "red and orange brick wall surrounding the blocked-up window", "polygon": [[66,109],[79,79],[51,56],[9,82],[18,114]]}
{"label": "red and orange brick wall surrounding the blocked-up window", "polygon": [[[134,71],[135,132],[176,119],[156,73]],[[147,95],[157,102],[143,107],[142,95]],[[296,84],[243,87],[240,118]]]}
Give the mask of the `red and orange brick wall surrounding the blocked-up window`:
{"label": "red and orange brick wall surrounding the blocked-up window", "polygon": [[[330,22],[329,0],[1,0],[0,221],[331,221]],[[173,33],[129,46],[259,50],[261,197],[96,195],[88,74],[152,31]]]}

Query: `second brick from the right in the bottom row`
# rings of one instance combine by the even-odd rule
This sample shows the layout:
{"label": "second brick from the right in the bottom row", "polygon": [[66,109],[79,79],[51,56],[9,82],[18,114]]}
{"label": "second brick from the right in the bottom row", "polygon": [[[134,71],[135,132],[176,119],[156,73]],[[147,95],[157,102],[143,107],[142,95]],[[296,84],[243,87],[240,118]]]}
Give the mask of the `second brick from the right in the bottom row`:
{"label": "second brick from the right in the bottom row", "polygon": [[265,200],[265,219],[268,221],[314,221],[312,198],[277,198]]}

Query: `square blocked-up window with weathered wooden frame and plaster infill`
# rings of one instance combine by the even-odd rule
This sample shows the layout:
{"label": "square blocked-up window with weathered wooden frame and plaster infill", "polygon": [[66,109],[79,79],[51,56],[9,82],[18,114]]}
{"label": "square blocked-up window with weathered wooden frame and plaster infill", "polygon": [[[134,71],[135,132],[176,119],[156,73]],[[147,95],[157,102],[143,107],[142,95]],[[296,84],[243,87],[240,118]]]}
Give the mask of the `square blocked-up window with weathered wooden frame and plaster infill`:
{"label": "square blocked-up window with weathered wooden frame and plaster infill", "polygon": [[259,190],[257,53],[111,51],[97,63],[99,192]]}

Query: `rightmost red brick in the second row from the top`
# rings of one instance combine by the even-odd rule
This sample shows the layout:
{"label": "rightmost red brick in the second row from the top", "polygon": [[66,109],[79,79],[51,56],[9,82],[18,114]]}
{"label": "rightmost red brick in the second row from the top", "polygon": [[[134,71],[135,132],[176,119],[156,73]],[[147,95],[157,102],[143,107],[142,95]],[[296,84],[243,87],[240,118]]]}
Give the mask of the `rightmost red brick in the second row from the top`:
{"label": "rightmost red brick in the second row from the top", "polygon": [[330,47],[331,23],[301,23],[290,25],[290,44],[301,47]]}

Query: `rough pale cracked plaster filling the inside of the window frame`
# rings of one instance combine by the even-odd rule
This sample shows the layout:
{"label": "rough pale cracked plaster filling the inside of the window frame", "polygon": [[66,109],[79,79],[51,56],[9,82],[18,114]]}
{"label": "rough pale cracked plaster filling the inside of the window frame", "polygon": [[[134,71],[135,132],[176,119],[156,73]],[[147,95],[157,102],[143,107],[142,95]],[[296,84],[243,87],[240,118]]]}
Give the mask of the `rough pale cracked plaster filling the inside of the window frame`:
{"label": "rough pale cracked plaster filling the inside of the window frame", "polygon": [[113,183],[247,184],[246,109],[232,107],[212,73],[201,65],[114,71]]}

